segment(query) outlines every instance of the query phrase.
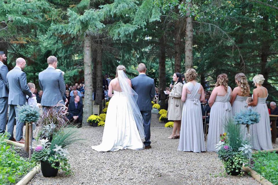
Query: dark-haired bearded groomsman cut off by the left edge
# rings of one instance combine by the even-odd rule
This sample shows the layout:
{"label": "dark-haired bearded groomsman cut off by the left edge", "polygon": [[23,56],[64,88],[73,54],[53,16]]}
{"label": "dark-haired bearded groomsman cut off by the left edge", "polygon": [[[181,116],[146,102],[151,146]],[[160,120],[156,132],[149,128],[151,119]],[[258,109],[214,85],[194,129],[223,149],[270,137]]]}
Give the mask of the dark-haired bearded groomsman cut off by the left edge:
{"label": "dark-haired bearded groomsman cut off by the left edge", "polygon": [[0,51],[0,134],[6,130],[9,97],[7,84],[7,73],[9,71],[4,62],[7,62],[7,57],[3,51]]}

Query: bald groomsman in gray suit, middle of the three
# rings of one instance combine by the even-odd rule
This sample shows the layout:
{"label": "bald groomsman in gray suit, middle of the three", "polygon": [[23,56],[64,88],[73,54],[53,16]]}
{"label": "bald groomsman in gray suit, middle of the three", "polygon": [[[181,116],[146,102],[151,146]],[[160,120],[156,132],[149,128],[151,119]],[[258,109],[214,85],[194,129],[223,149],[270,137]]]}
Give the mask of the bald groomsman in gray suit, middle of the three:
{"label": "bald groomsman in gray suit, middle of the three", "polygon": [[25,143],[23,136],[23,123],[15,119],[17,117],[17,105],[23,106],[26,103],[26,95],[35,96],[27,85],[26,74],[22,71],[25,68],[26,61],[23,58],[16,60],[16,66],[7,74],[7,85],[10,90],[8,104],[10,105],[8,132],[11,134],[10,140],[14,141],[14,124],[16,126],[15,140],[19,143]]}

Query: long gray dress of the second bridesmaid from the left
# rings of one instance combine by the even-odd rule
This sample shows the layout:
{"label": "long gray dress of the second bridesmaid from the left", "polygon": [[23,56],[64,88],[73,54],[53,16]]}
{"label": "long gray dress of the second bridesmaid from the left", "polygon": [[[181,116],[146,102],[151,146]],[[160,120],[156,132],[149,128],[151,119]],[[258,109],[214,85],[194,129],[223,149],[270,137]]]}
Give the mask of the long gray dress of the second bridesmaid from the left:
{"label": "long gray dress of the second bridesmaid from the left", "polygon": [[220,141],[220,134],[224,134],[223,123],[233,117],[232,106],[230,103],[231,87],[225,96],[216,96],[209,118],[209,133],[207,150],[216,151],[215,145]]}

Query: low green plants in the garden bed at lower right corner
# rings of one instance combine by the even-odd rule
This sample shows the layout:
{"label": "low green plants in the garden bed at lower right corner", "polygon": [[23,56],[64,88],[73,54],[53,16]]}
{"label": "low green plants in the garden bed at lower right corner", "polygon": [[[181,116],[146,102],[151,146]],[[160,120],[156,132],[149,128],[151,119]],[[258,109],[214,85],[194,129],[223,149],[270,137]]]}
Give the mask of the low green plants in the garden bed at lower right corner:
{"label": "low green plants in the garden bed at lower right corner", "polygon": [[278,185],[278,154],[275,152],[259,152],[252,155],[253,170],[261,174],[272,184]]}

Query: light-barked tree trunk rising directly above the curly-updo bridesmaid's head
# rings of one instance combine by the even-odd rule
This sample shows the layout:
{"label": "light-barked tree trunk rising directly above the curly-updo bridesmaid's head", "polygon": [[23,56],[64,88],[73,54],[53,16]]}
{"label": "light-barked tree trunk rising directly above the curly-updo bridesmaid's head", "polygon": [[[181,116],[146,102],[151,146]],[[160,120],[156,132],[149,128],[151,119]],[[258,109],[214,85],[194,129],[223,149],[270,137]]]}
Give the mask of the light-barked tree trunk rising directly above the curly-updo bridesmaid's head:
{"label": "light-barked tree trunk rising directly above the curly-updo bridesmaid's head", "polygon": [[185,71],[187,69],[192,68],[193,66],[193,23],[192,18],[190,16],[190,8],[191,8],[191,2],[187,4],[187,13],[186,13],[186,27],[185,27]]}

